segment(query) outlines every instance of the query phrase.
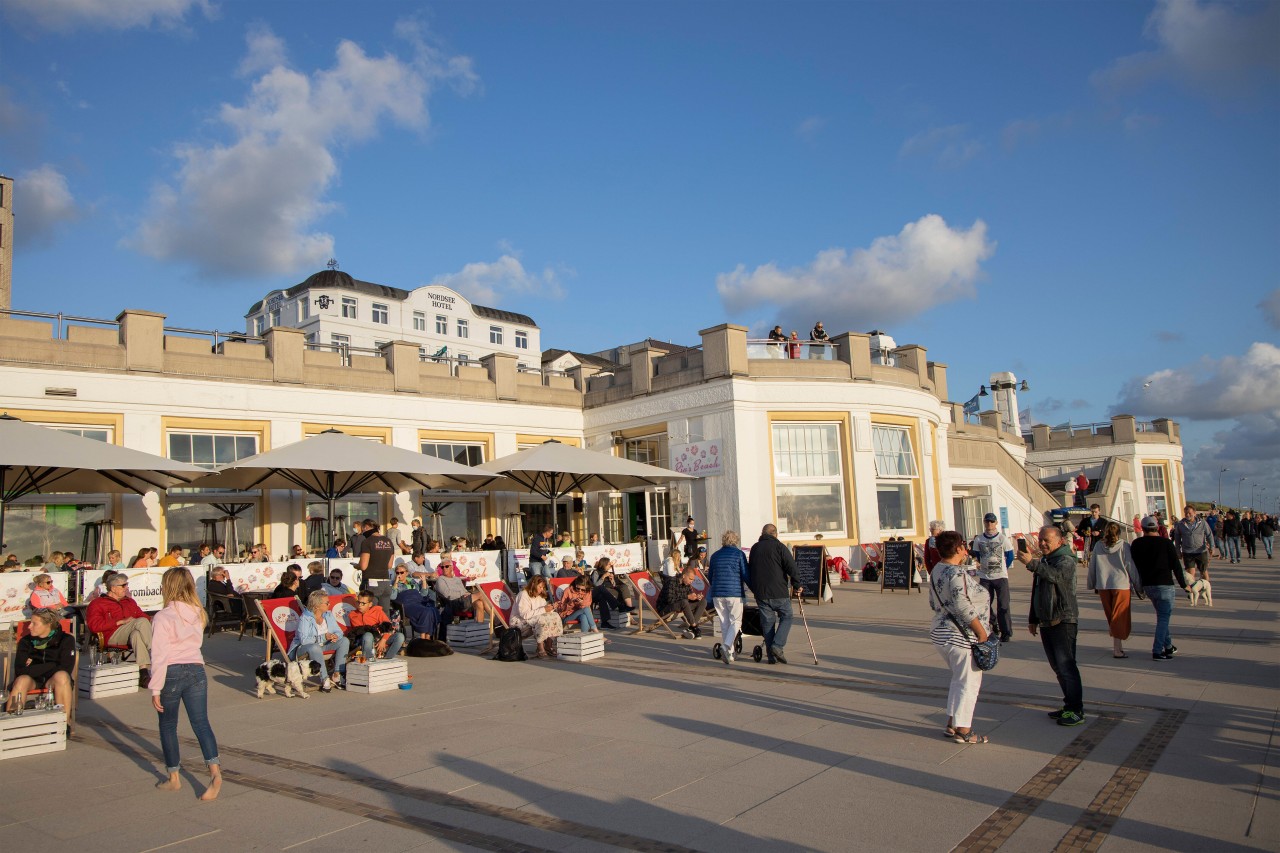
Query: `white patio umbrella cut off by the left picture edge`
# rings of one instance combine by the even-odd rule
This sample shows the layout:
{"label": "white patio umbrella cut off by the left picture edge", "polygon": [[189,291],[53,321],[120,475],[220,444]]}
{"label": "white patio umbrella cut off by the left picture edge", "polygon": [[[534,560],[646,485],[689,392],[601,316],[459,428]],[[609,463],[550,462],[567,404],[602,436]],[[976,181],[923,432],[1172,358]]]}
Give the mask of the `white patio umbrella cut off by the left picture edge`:
{"label": "white patio umbrella cut off by the left picture edge", "polygon": [[44,492],[163,492],[206,473],[164,456],[28,424],[5,412],[0,415],[0,543],[4,507],[20,497]]}

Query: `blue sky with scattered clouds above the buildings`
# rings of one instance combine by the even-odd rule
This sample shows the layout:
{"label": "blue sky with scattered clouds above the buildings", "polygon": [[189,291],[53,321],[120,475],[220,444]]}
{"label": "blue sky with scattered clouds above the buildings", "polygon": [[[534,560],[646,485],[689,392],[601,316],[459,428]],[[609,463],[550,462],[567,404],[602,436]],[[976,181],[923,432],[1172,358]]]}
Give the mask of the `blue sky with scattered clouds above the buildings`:
{"label": "blue sky with scattered clouds above the buildings", "polygon": [[0,0],[14,307],[239,329],[332,255],[548,348],[822,318],[957,400],[1174,418],[1193,497],[1274,508],[1276,44],[1192,0]]}

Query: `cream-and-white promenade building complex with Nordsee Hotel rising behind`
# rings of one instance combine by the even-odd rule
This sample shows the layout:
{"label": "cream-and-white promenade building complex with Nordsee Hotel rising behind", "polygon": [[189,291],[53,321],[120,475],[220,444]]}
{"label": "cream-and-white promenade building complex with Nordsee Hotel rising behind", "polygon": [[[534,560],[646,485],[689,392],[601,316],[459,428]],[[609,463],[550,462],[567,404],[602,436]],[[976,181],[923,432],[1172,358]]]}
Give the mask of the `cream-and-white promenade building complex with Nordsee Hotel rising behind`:
{"label": "cream-and-white promenade building complex with Nordsee Hotel rising behind", "polygon": [[[343,316],[348,298],[355,316]],[[966,424],[946,365],[920,346],[895,348],[890,366],[873,360],[869,336],[844,333],[833,337],[833,359],[780,359],[745,328],[721,324],[680,352],[634,345],[612,371],[581,364],[544,374],[531,318],[447,288],[401,291],[335,270],[268,295],[247,321],[246,339],[211,346],[166,329],[151,311],[61,333],[52,320],[0,315],[0,409],[211,470],[330,428],[466,464],[547,439],[664,466],[690,451],[718,457],[691,484],[585,494],[558,508],[557,526],[576,542],[596,533],[607,542],[648,538],[652,564],[686,515],[713,540],[732,528],[751,542],[774,523],[786,540],[820,534],[833,552],[852,553],[891,535],[922,540],[931,519],[973,534],[986,511],[1007,517],[1011,532],[1030,530],[1060,503],[1028,466],[1029,442],[998,412]],[[500,336],[490,338],[493,328]],[[433,360],[440,347],[448,357]],[[1091,432],[1091,459],[1105,460],[1110,442],[1139,470],[1162,465],[1165,479],[1143,482],[1133,464],[1114,465],[1108,515],[1128,506],[1123,494],[1138,506],[1156,497],[1174,506],[1183,496],[1176,424],[1134,424],[1120,418],[1115,441]],[[1044,448],[1056,441],[1059,455],[1083,442],[1037,434],[1037,444],[1042,438]],[[348,526],[366,516],[404,521],[426,516],[428,503],[447,534],[472,538],[511,539],[516,519],[527,534],[552,517],[545,501],[504,492],[355,496],[338,514]],[[273,555],[320,544],[308,519],[324,505],[301,492],[186,489],[24,498],[6,511],[5,552],[79,552],[84,525],[102,519],[115,523],[113,542],[125,553],[192,547],[220,538],[219,520],[233,510],[241,543],[264,542]]]}

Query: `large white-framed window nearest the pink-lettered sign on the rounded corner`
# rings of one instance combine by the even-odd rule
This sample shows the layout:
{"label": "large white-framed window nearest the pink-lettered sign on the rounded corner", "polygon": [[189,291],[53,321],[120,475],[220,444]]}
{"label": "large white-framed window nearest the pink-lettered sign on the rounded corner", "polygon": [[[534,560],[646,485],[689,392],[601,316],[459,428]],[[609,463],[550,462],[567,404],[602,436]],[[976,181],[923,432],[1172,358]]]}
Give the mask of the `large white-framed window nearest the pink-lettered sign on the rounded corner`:
{"label": "large white-framed window nearest the pink-lettered sign on the rounded corner", "polygon": [[840,424],[773,424],[778,533],[845,533]]}

